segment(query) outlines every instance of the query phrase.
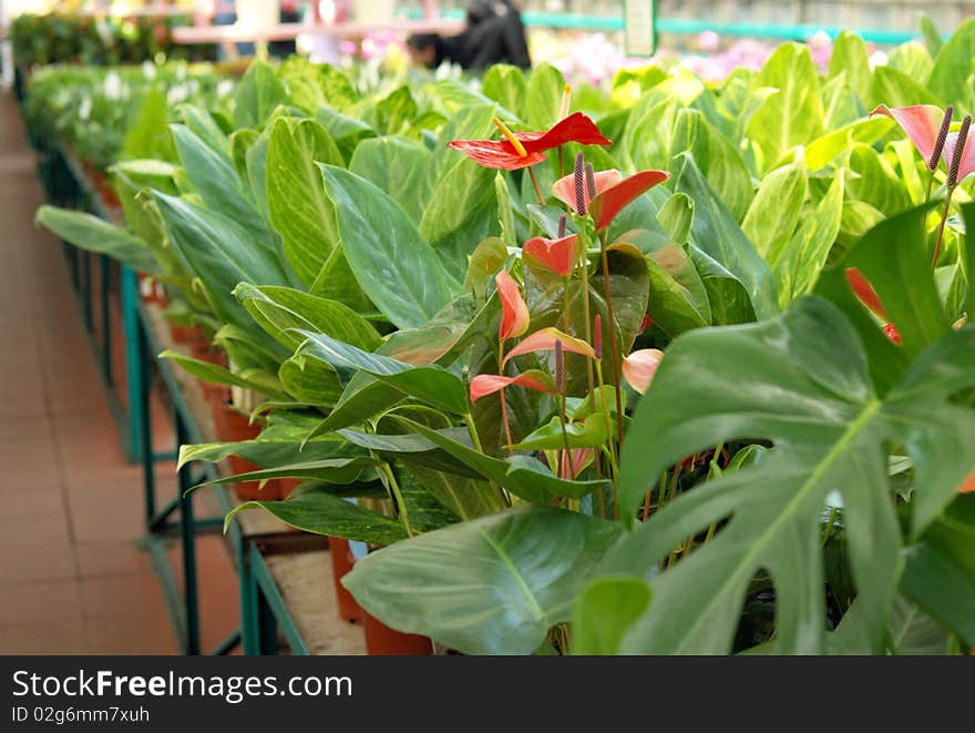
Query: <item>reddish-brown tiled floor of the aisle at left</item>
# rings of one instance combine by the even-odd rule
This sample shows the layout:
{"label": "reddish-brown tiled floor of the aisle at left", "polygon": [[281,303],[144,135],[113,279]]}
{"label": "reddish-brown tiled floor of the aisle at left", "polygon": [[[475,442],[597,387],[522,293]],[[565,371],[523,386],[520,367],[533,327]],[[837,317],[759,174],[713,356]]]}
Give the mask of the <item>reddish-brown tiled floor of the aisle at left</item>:
{"label": "reddish-brown tiled floor of the aisle at left", "polygon": [[[61,245],[33,225],[33,165],[0,92],[0,653],[173,654],[141,549],[142,468],[124,457]],[[154,416],[171,449],[168,418]],[[173,496],[172,464],[157,480]],[[198,566],[212,649],[238,623],[237,581],[219,537],[201,542]]]}

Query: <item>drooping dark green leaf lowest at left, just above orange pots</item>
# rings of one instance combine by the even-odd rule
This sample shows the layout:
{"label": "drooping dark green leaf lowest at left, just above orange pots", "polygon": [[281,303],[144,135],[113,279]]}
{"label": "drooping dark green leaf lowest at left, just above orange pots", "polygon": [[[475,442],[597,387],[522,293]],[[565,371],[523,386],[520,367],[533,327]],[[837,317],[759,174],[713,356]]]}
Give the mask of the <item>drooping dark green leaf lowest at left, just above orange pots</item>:
{"label": "drooping dark green leaf lowest at left, just above orange pots", "polygon": [[227,515],[226,523],[229,525],[234,515],[244,509],[264,509],[283,522],[312,535],[376,544],[392,544],[408,537],[403,525],[396,519],[340,499],[325,488],[301,491],[285,501],[247,501]]}

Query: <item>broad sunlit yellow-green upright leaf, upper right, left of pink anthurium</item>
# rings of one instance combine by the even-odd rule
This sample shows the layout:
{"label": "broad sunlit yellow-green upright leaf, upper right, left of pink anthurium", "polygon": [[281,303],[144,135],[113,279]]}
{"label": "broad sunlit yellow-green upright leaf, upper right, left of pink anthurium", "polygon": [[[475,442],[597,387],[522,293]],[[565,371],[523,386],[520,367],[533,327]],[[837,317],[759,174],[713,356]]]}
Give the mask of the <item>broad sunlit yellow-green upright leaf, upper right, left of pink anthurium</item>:
{"label": "broad sunlit yellow-green upright leaf, upper right, left of pink anthurium", "polygon": [[749,135],[762,151],[761,167],[770,170],[790,149],[805,145],[823,133],[819,72],[807,47],[783,43],[762,67],[755,83],[778,90],[748,123]]}

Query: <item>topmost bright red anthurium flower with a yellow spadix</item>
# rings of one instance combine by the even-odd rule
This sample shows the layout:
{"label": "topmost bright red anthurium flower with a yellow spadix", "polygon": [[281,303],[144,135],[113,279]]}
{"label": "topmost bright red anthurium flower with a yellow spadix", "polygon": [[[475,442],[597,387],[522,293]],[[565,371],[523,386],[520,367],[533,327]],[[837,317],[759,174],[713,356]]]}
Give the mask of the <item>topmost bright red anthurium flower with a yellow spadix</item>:
{"label": "topmost bright red anthurium flower with a yellow spadix", "polygon": [[524,154],[509,140],[454,140],[447,144],[454,147],[479,165],[490,169],[516,171],[545,160],[545,151],[565,143],[583,145],[612,145],[603,136],[596,123],[582,112],[571,114],[551,130],[542,132],[515,132]]}

